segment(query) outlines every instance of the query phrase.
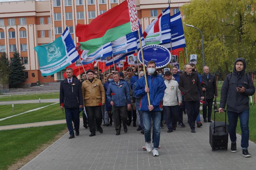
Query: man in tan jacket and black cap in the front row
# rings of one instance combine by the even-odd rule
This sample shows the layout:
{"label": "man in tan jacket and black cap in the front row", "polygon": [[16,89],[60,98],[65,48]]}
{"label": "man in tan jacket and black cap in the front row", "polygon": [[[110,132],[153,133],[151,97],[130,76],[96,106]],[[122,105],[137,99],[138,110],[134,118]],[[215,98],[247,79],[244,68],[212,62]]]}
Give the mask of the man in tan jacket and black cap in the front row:
{"label": "man in tan jacket and black cap in the front row", "polygon": [[103,133],[101,128],[101,105],[105,104],[105,90],[102,82],[94,78],[94,72],[92,70],[87,71],[86,74],[88,80],[82,83],[82,95],[90,126],[91,134],[89,136],[95,136],[96,128],[94,119],[96,119],[99,132]]}

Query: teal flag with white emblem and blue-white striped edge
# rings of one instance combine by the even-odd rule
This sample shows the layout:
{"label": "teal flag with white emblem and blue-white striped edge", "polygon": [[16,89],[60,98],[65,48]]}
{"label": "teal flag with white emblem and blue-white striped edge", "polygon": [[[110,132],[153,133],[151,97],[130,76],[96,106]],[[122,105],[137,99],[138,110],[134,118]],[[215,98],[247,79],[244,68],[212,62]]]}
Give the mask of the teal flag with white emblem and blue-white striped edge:
{"label": "teal flag with white emblem and blue-white striped edge", "polygon": [[39,69],[42,76],[57,73],[79,59],[68,28],[52,43],[36,46],[34,49],[38,55]]}

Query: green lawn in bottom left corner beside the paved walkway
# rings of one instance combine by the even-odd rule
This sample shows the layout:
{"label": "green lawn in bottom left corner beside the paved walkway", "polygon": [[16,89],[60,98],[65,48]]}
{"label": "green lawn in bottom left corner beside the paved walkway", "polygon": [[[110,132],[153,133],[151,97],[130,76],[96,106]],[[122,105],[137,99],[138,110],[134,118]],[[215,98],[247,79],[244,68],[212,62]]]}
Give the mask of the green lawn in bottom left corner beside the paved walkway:
{"label": "green lawn in bottom left corner beside the paved walkway", "polygon": [[0,131],[0,169],[6,169],[15,161],[52,141],[65,128],[66,124],[59,124]]}

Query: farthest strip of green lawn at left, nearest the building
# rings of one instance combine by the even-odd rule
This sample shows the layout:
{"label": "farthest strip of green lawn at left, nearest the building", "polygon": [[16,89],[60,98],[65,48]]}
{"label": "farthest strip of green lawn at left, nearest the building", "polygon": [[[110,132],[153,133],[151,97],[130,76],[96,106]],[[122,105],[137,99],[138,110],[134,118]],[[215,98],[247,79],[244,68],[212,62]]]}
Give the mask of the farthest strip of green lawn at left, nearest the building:
{"label": "farthest strip of green lawn at left, nearest the building", "polygon": [[38,100],[38,99],[58,99],[59,93],[38,93],[38,94],[23,94],[23,95],[11,95],[10,96],[0,96],[0,101],[13,101],[13,100]]}

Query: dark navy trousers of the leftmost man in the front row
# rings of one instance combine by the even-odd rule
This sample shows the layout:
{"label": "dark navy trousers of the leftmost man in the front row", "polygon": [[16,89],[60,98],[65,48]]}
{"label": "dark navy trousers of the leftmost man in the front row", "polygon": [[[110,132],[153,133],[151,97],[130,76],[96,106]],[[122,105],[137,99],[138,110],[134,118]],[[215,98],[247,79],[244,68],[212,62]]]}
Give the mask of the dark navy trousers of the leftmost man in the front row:
{"label": "dark navy trousers of the leftmost man in the front row", "polygon": [[79,108],[65,108],[67,129],[70,135],[74,135],[72,120],[74,121],[74,127],[77,132],[79,132]]}

